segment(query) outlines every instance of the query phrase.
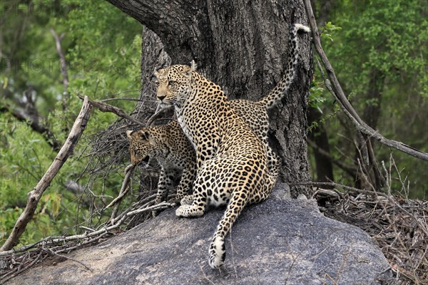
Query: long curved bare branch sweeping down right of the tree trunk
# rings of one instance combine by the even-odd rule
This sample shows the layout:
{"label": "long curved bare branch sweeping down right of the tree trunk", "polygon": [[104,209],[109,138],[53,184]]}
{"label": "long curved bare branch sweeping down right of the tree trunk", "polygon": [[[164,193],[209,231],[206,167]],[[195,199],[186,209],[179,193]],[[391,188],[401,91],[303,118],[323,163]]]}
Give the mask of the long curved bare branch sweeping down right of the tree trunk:
{"label": "long curved bare branch sweeping down right of the tree trunk", "polygon": [[315,16],[312,11],[312,6],[310,4],[310,0],[304,0],[305,3],[305,9],[307,13],[307,18],[309,19],[310,28],[312,31],[312,41],[314,43],[315,49],[320,56],[322,63],[324,64],[324,67],[327,71],[327,75],[330,78],[330,83],[332,84],[332,90],[334,91],[332,95],[335,96],[335,99],[340,104],[340,107],[345,112],[348,118],[352,121],[352,123],[355,125],[355,128],[359,130],[361,133],[364,133],[365,135],[368,135],[372,138],[375,138],[379,142],[381,142],[384,145],[387,145],[389,147],[394,147],[397,150],[400,150],[404,153],[407,153],[408,155],[412,155],[414,157],[417,157],[421,160],[428,161],[428,153],[422,152],[420,150],[417,150],[413,147],[410,147],[409,145],[405,145],[402,142],[397,142],[396,140],[389,140],[387,138],[384,138],[384,136],[377,133],[376,130],[373,130],[369,125],[367,125],[357,114],[354,108],[352,108],[351,103],[347,100],[345,93],[342,90],[342,87],[340,86],[339,81],[337,80],[337,77],[335,75],[335,71],[332,68],[332,65],[328,61],[327,56],[325,55],[324,50],[321,46],[321,40],[320,40],[320,34],[318,33],[317,24],[315,21]]}

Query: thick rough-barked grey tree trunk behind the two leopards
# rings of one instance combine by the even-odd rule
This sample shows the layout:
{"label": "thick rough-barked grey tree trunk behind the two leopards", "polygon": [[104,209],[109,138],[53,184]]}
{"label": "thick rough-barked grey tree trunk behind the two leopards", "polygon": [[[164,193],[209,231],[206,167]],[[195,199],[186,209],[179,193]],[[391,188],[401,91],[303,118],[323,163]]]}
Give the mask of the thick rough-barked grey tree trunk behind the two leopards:
{"label": "thick rough-barked grey tree trunk behind the two leopards", "polygon": [[[267,95],[285,70],[290,24],[307,24],[305,7],[295,0],[107,1],[156,33],[172,64],[194,59],[198,72],[223,86],[230,98],[257,100]],[[143,47],[153,45],[159,51],[156,37],[150,37]],[[300,41],[295,83],[270,111],[270,143],[282,159],[282,182],[310,181],[306,110],[312,52],[309,37]],[[143,48],[143,58],[149,53],[160,54]],[[144,78],[156,65],[153,60],[142,64],[143,88],[151,84]],[[307,187],[292,187],[292,197],[300,193],[311,194]]]}

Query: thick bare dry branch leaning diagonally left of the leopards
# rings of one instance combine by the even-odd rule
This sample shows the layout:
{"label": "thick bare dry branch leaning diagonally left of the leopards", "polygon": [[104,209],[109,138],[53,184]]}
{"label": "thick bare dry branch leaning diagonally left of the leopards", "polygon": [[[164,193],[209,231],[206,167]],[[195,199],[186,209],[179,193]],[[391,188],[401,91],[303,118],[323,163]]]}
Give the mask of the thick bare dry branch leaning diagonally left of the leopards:
{"label": "thick bare dry branch leaning diagonally left of the leopards", "polygon": [[30,222],[34,211],[36,211],[36,207],[39,203],[41,195],[43,195],[46,188],[49,187],[52,180],[54,180],[55,175],[66,162],[67,158],[73,153],[76,143],[81,138],[83,130],[86,128],[86,123],[88,123],[90,114],[91,105],[88,104],[88,98],[85,97],[83,100],[81,112],[78,114],[76,121],[73,124],[73,128],[71,128],[66,142],[64,142],[61,150],[58,152],[58,155],[56,155],[55,160],[46,171],[44,177],[42,177],[39,183],[37,183],[36,187],[34,187],[34,189],[29,192],[29,197],[24,212],[22,212],[21,216],[16,221],[14,229],[1,247],[0,252],[7,251],[18,244],[19,237],[21,237],[21,234],[24,232],[26,224]]}

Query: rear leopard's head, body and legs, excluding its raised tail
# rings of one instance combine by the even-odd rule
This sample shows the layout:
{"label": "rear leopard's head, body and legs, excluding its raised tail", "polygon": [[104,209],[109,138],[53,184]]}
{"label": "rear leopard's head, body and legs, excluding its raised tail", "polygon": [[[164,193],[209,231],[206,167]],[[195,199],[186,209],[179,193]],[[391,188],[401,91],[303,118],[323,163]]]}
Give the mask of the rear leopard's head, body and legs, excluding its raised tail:
{"label": "rear leopard's head, body and legs, excluding its raised tail", "polygon": [[[268,154],[269,171],[276,180],[279,173],[279,159],[267,144],[267,129],[260,128],[260,125],[268,124],[267,113],[250,100],[232,100],[230,105],[263,141]],[[257,121],[257,118],[260,121]],[[126,135],[129,138],[131,164],[138,165],[143,162],[144,165],[147,165],[149,157],[154,157],[161,166],[156,204],[166,200],[169,190],[173,189],[175,177],[180,172],[182,173],[177,194],[175,198],[168,201],[180,203],[193,189],[197,167],[193,145],[181,130],[178,122],[173,120],[166,125],[153,125],[134,131],[127,130]],[[190,199],[193,198],[186,196],[185,201]]]}

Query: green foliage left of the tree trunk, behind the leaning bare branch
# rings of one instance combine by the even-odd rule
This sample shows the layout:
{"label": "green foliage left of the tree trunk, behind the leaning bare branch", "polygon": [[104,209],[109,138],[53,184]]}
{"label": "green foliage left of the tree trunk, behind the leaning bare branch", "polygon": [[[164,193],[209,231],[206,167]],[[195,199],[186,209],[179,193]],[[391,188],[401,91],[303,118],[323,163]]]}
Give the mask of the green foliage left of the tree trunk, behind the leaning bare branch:
{"label": "green foliage left of the tree trunk, behind the leaning bare branch", "polygon": [[[138,96],[142,27],[106,1],[16,1],[11,6],[0,5],[0,14],[0,41],[6,43],[0,49],[1,110],[24,110],[23,95],[29,91],[44,125],[56,140],[64,142],[81,109],[77,93],[93,99],[120,97],[116,94],[125,91],[126,97]],[[68,64],[70,94],[65,98],[50,28],[64,35],[61,46]],[[132,110],[134,105],[123,100],[114,102],[125,110]],[[63,234],[66,229],[68,234],[78,232],[74,226],[91,218],[91,207],[103,206],[102,199],[90,201],[83,192],[68,190],[66,185],[69,181],[86,185],[88,177],[79,174],[88,165],[89,138],[114,120],[116,116],[111,113],[93,111],[73,156],[41,198],[21,244]],[[56,152],[43,135],[8,112],[0,113],[0,133],[1,245],[23,211],[27,193],[44,175]],[[123,180],[118,172],[96,180],[91,185],[94,194],[116,196]]]}

